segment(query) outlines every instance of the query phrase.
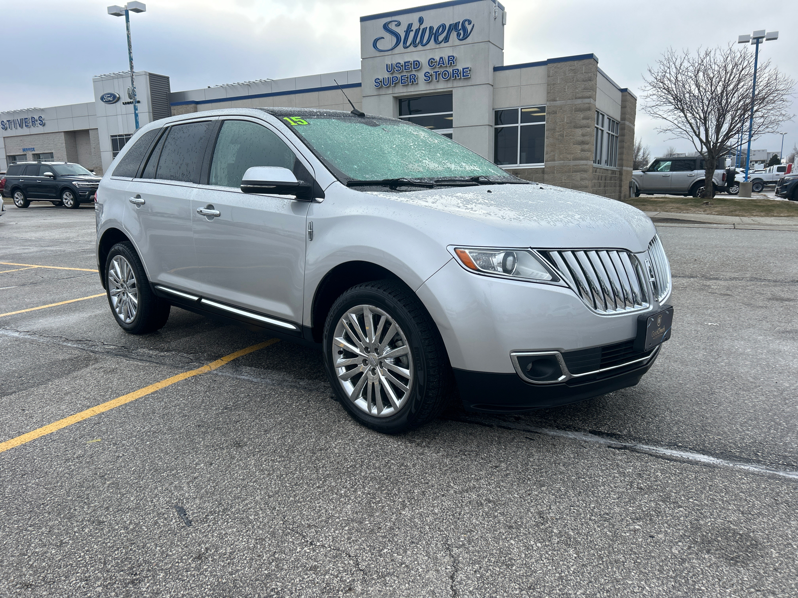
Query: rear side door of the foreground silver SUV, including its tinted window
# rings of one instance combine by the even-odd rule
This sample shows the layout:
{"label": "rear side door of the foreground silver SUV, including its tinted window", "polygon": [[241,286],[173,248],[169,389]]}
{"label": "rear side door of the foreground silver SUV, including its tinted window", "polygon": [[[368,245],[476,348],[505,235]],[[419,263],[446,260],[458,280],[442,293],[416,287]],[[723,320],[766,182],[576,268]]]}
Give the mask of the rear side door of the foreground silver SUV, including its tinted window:
{"label": "rear side door of the foreground silver SUV, including its tinted window", "polygon": [[162,132],[140,178],[127,187],[124,228],[153,282],[192,289],[196,267],[192,194],[213,120],[179,123]]}

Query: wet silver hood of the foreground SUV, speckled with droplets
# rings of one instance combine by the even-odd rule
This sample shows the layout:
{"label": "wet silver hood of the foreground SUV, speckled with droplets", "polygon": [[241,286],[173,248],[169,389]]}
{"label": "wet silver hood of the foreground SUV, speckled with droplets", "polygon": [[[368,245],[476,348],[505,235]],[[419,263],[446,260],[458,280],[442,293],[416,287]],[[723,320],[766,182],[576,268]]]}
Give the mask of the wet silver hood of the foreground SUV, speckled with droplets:
{"label": "wet silver hood of the foreground SUV, speckled with droplets", "polygon": [[[615,199],[551,185],[484,185],[405,193],[370,191],[417,207],[430,234],[447,243],[544,248],[647,249],[656,234],[642,211]],[[424,218],[426,210],[438,214]],[[415,210],[402,210],[405,218]],[[400,214],[397,214],[401,217]]]}

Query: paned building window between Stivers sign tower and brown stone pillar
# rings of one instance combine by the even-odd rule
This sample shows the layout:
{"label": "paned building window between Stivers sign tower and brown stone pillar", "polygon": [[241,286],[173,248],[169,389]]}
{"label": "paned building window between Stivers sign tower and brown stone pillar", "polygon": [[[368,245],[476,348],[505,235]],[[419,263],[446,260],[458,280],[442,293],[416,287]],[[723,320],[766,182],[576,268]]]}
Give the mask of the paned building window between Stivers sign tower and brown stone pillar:
{"label": "paned building window between Stivers sign tower and brown stone pillar", "polygon": [[546,106],[494,111],[493,161],[500,166],[540,166],[546,137]]}

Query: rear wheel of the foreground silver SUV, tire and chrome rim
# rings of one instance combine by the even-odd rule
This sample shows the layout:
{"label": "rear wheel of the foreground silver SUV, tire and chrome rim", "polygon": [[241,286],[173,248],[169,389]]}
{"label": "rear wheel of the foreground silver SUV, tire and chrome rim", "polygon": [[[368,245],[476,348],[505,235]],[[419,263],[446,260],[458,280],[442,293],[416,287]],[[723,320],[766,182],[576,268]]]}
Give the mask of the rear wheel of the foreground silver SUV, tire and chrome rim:
{"label": "rear wheel of the foreground silver SUV, tire and chrome rim", "polygon": [[131,334],[160,330],[171,305],[152,293],[144,266],[130,242],[117,243],[105,262],[105,289],[111,313]]}

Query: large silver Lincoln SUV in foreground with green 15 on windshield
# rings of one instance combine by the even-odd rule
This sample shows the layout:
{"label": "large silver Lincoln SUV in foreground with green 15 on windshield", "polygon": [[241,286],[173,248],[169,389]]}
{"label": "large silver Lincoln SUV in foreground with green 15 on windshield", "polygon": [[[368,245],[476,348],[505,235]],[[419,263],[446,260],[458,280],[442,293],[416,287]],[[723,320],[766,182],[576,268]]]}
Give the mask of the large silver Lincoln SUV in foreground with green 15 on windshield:
{"label": "large silver Lincoln SUV in foreground with green 15 on windshield", "polygon": [[343,407],[390,433],[454,396],[509,413],[634,386],[673,317],[641,211],[356,111],[147,125],[97,191],[97,263],[124,330],[174,305],[319,348]]}

